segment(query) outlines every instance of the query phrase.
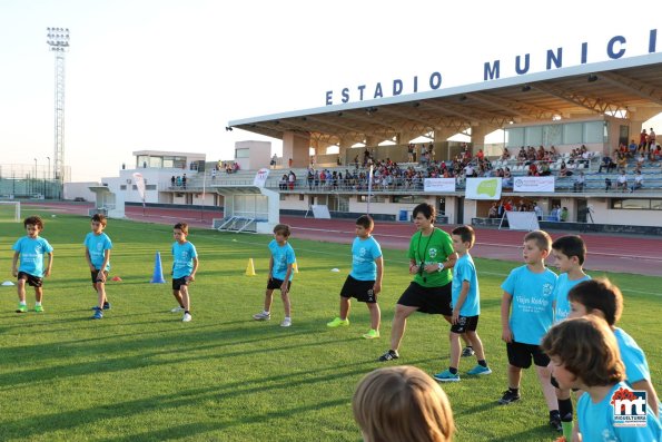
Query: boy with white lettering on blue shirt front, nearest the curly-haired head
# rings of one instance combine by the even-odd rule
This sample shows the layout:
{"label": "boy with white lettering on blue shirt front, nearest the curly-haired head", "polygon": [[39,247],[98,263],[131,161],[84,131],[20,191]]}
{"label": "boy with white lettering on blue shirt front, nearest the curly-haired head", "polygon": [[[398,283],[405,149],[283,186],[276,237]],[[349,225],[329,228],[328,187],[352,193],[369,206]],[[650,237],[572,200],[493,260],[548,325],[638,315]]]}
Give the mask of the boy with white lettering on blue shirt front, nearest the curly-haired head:
{"label": "boy with white lettering on blue shirt front, nearest the curly-haired head", "polygon": [[498,400],[502,405],[518,401],[522,370],[535,364],[543,395],[550,410],[550,425],[560,430],[556,394],[550,382],[550,358],[540,348],[542,337],[554,320],[554,285],[556,274],[545,267],[545,258],[552,248],[552,238],[546,232],[534,230],[524,236],[522,255],[525,265],[511,272],[501,285],[502,340],[508,355],[508,390]]}

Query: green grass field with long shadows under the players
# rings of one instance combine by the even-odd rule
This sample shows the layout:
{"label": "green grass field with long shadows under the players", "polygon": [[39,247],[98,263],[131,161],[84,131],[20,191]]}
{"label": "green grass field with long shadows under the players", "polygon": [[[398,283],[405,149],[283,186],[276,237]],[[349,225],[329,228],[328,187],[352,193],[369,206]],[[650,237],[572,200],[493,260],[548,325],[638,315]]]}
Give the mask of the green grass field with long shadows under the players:
{"label": "green grass field with long shadows under the players", "polygon": [[[22,216],[33,214],[23,208]],[[170,226],[110,220],[115,248],[108,283],[112,310],[90,321],[96,294],[85,264],[83,217],[41,213],[42,234],[55,247],[45,283],[46,313],[13,313],[16,287],[0,287],[1,441],[359,441],[350,399],[360,377],[383,366],[396,299],[407,286],[403,251],[384,251],[382,338],[365,341],[367,308],[353,304],[352,326],[327,330],[349,271],[349,246],[299,240],[299,273],[292,289],[293,326],[283,328],[281,303],[273,320],[261,308],[270,237],[192,229],[200,255],[191,285],[194,321],[171,314]],[[11,276],[11,246],[22,224],[0,219],[2,281]],[[149,284],[160,252],[167,284]],[[590,253],[590,251],[589,251]],[[257,276],[246,276],[254,258]],[[525,372],[523,400],[500,406],[506,387],[501,342],[500,284],[518,263],[476,259],[482,313],[478,332],[491,376],[444,385],[458,433],[456,441],[551,441],[547,412],[535,373]],[[339,273],[330,272],[337,267]],[[593,273],[592,276],[602,276]],[[610,274],[625,295],[621,325],[646,352],[654,385],[662,390],[661,279]],[[33,306],[33,292],[28,305]],[[407,324],[399,364],[427,373],[448,363],[448,326],[441,316],[416,314]],[[475,360],[464,358],[461,374]]]}

